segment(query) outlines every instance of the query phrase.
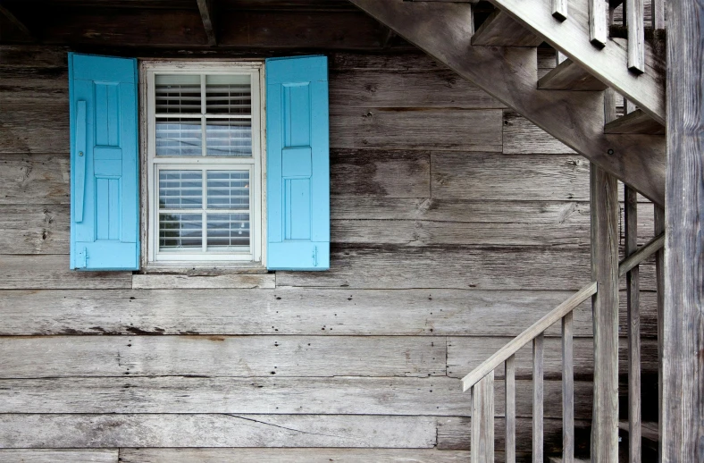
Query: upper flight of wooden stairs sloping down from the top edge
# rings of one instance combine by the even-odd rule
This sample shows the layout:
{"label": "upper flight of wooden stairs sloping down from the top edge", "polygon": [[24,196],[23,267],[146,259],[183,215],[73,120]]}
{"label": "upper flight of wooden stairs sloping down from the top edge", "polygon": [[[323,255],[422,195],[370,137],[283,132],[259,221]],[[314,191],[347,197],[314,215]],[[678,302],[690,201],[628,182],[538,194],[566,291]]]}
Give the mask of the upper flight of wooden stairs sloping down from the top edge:
{"label": "upper flight of wooden stairs sloping down from the top edge", "polygon": [[[476,33],[471,3],[350,2],[663,206],[665,66],[662,47],[644,39],[641,0],[626,0],[636,5],[626,14],[627,41],[608,37],[618,0],[610,11],[600,0],[491,0],[496,11]],[[653,17],[662,29],[661,14]],[[566,59],[539,81],[543,42]],[[638,115],[612,121],[609,90],[637,105]]]}

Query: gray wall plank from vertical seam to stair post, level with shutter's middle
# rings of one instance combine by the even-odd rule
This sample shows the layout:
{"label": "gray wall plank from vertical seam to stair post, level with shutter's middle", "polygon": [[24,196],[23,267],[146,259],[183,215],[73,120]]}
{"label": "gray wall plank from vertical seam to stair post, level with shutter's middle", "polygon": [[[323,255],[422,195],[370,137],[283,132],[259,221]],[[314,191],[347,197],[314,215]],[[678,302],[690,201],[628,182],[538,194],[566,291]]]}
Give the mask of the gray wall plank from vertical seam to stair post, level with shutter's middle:
{"label": "gray wall plank from vertical seam to stair post, level with shutter's middle", "polygon": [[582,200],[589,198],[588,171],[589,163],[576,155],[433,152],[432,198]]}

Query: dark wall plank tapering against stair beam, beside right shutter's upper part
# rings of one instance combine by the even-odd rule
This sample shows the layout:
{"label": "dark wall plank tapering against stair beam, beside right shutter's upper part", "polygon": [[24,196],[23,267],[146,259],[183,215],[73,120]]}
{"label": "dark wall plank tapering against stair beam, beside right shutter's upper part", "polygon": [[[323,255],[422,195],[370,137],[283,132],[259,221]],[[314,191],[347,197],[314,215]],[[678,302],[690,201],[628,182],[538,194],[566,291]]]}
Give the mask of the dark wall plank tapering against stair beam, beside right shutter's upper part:
{"label": "dark wall plank tapering against stair beam, beside right shutter's upper part", "polygon": [[[393,56],[393,55],[392,55]],[[397,56],[397,61],[403,63]],[[372,61],[369,58],[368,61]],[[444,66],[423,70],[406,58],[411,69],[354,69],[330,73],[331,106],[362,108],[503,108],[505,105]],[[360,64],[362,65],[362,64]],[[402,64],[389,63],[393,67]]]}

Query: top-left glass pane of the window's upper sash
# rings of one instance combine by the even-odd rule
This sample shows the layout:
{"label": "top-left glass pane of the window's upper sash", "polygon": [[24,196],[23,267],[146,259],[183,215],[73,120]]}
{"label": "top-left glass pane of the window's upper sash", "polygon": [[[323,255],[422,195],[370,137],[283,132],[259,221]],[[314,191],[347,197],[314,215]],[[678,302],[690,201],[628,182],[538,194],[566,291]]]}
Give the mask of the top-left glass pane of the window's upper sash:
{"label": "top-left glass pane of the window's upper sash", "polygon": [[200,76],[155,76],[156,114],[201,114]]}

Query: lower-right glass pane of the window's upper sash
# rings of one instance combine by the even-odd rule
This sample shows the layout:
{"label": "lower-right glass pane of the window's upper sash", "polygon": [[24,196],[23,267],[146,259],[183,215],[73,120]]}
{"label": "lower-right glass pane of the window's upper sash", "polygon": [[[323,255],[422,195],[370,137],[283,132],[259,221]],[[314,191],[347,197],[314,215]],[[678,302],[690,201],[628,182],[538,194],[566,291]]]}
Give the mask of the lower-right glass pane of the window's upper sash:
{"label": "lower-right glass pane of the window's upper sash", "polygon": [[248,119],[207,119],[207,156],[252,156],[252,122]]}

